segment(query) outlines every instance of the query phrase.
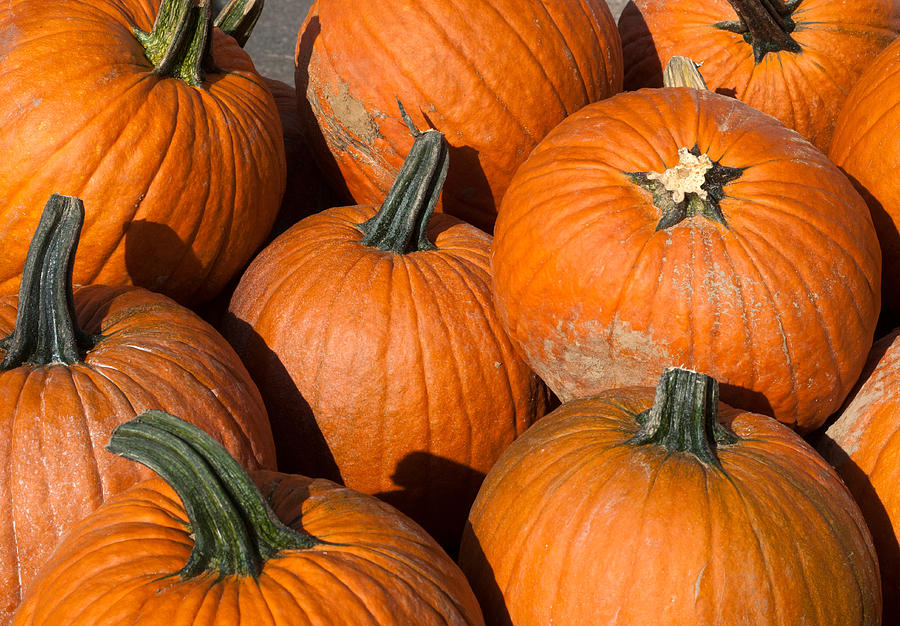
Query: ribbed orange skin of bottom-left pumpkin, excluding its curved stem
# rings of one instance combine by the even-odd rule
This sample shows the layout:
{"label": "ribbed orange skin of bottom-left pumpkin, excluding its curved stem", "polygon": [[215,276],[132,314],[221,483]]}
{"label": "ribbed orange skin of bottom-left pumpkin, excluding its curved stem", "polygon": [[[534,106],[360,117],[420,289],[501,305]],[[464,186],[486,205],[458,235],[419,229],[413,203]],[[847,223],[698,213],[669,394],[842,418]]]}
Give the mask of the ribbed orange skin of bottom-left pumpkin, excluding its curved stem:
{"label": "ribbed orange skin of bottom-left pumpkin, excluding its curved stem", "polygon": [[456,564],[396,510],[327,480],[253,475],[279,519],[333,543],[282,551],[256,579],[180,580],[193,547],[187,516],[171,488],[151,479],[73,529],[13,623],[484,624]]}

